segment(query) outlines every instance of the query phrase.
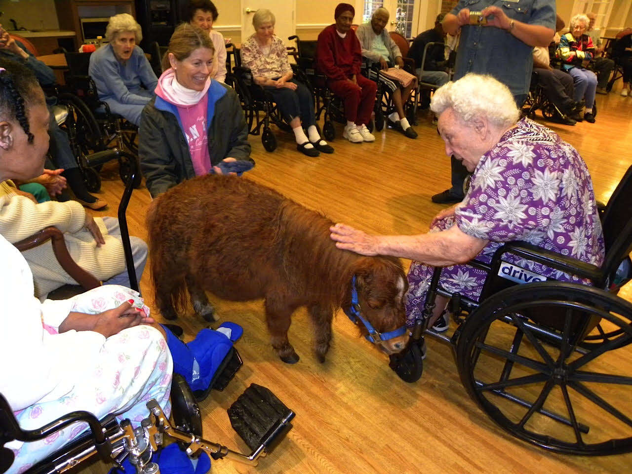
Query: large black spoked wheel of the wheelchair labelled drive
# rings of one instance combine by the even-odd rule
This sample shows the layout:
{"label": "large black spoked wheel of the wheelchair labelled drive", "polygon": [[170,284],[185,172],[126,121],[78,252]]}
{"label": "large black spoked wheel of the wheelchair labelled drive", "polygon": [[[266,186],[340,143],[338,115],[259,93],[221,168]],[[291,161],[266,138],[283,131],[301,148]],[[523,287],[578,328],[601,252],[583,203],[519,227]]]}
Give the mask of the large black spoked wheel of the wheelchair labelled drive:
{"label": "large black spoked wheel of the wheelchair labelled drive", "polygon": [[[632,451],[632,304],[558,281],[490,296],[461,327],[457,363],[470,397],[510,434],[564,454]],[[616,332],[582,349],[599,323]],[[544,342],[544,340],[546,342]]]}

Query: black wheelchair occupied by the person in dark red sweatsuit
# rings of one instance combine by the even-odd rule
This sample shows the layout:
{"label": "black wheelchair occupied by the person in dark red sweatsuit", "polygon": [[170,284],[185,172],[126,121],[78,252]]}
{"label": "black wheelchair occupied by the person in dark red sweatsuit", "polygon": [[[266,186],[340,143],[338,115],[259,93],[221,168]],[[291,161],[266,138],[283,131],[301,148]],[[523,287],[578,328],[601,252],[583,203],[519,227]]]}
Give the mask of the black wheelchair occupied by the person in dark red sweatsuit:
{"label": "black wheelchair occupied by the person in dark red sweatsuit", "polygon": [[[288,40],[296,41],[296,68],[295,74],[300,78],[301,82],[305,83],[307,87],[312,91],[314,98],[314,111],[316,120],[320,120],[320,116],[323,116],[322,133],[319,128],[319,134],[325,140],[333,141],[336,138],[336,130],[334,129],[334,121],[338,123],[346,123],[344,117],[344,104],[340,97],[337,97],[329,87],[327,87],[327,76],[316,70],[316,48],[317,40],[301,40],[298,35],[292,35]],[[367,75],[366,71],[365,76]],[[379,83],[378,83],[379,84]],[[384,115],[380,104],[382,97],[378,93],[375,99],[374,106],[374,119],[367,123],[368,131],[373,131],[377,128],[375,125],[381,123],[384,126]],[[377,130],[382,130],[381,128]]]}

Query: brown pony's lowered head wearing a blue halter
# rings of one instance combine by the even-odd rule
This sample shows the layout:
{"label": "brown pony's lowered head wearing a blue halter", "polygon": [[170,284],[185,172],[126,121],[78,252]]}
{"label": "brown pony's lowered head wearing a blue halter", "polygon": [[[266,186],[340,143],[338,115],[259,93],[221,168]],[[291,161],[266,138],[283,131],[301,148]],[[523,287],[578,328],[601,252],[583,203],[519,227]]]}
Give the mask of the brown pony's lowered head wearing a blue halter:
{"label": "brown pony's lowered head wearing a blue halter", "polygon": [[[349,297],[345,298],[345,311],[353,310],[351,306],[356,303],[356,310],[362,318],[382,334],[381,341],[376,341],[380,348],[389,355],[402,351],[408,344],[408,330],[404,327],[404,295],[408,282],[399,260],[391,257],[360,258],[354,265],[353,274],[357,301],[353,301],[351,289]],[[371,336],[362,320],[355,323],[363,336]],[[389,335],[391,332],[395,333]]]}

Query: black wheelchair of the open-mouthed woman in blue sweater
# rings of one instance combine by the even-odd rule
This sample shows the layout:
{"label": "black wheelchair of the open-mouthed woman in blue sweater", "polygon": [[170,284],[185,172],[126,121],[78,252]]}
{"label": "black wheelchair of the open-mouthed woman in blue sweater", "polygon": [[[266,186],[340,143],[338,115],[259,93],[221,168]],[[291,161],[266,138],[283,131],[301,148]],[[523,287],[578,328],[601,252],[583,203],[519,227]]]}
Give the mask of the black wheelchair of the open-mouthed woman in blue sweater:
{"label": "black wheelchair of the open-mouthed woman in blue sweater", "polygon": [[[60,88],[59,104],[68,107],[68,120],[64,124],[66,133],[82,169],[89,191],[100,188],[100,166],[88,166],[88,157],[101,153],[98,161],[102,165],[109,159],[119,162],[119,176],[125,183],[133,169],[132,160],[138,162],[138,147],[135,144],[138,128],[121,116],[112,114],[109,106],[99,100],[94,81],[88,75],[90,53],[66,52],[68,74],[66,86]],[[142,180],[136,174],[135,187]]]}

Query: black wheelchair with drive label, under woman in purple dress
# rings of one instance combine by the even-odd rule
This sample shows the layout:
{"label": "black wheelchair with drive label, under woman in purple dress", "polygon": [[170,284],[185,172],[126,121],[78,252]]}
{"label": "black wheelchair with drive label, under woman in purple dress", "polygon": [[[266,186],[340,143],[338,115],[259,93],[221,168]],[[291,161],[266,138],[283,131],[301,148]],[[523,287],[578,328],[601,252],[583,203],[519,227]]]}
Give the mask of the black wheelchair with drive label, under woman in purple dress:
{"label": "black wheelchair with drive label, under woman in purple dress", "polygon": [[[441,288],[441,268],[435,269],[411,342],[391,356],[391,368],[406,382],[418,380],[427,334],[451,344],[470,398],[514,437],[562,454],[632,451],[632,377],[619,368],[630,356],[632,304],[616,295],[632,277],[629,209],[632,166],[602,214],[601,267],[514,241],[497,249],[490,264],[468,264],[488,274],[479,301]],[[515,284],[503,270],[510,255],[593,286],[551,279]],[[458,323],[451,336],[428,327],[437,295],[449,298]]]}

